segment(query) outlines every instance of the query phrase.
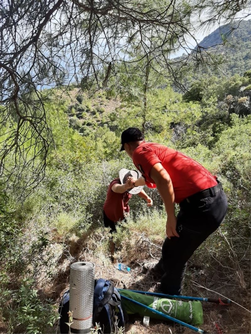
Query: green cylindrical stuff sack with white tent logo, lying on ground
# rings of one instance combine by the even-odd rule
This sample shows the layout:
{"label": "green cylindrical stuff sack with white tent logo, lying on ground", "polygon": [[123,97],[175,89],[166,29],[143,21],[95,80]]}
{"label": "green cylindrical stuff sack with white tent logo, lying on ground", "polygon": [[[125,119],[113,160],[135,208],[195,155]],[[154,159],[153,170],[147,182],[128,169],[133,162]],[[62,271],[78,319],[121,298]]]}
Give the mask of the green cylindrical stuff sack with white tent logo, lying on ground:
{"label": "green cylindrical stuff sack with white tent logo, lying on ground", "polygon": [[[119,294],[188,324],[196,326],[203,324],[203,310],[199,301],[184,302],[181,300],[143,295],[130,290],[120,290]],[[162,316],[124,298],[121,298],[121,304],[128,314],[139,314],[142,317],[148,316],[153,319],[163,320]]]}

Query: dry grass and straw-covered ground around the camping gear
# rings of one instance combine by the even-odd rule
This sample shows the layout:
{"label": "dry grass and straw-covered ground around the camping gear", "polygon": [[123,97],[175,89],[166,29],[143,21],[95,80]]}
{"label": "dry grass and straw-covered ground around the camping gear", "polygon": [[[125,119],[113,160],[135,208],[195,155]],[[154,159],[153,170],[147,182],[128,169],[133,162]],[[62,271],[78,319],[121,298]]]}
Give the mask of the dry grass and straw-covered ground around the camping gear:
{"label": "dry grass and straw-covered ground around the camping gear", "polygon": [[[61,258],[58,277],[50,291],[47,291],[48,295],[57,298],[57,302],[59,301],[59,297],[69,288],[70,265],[75,261],[95,263],[95,277],[109,279],[117,288],[158,290],[159,279],[151,273],[144,274],[142,265],[144,262],[149,262],[149,260],[160,256],[160,240],[154,243],[144,234],[136,231],[129,239],[116,245],[119,249],[116,251],[115,257],[116,261],[126,263],[132,268],[130,274],[118,271],[111,262],[108,253],[108,233],[93,231],[82,238],[69,240],[68,250]],[[234,274],[222,271],[221,265],[217,262],[210,267],[204,266],[203,263],[196,265],[195,256],[188,264],[183,294],[217,298],[218,292],[250,309],[250,291],[246,285],[243,285],[243,282],[237,286],[236,280],[233,279]],[[246,277],[246,275],[244,276]],[[215,293],[207,289],[214,290]],[[209,333],[220,333],[219,329],[222,333],[250,333],[250,313],[236,304],[221,306],[203,303],[203,310],[204,325],[201,328]],[[145,327],[142,320],[140,318],[131,319],[126,326],[126,333],[194,333],[177,324],[161,323],[153,319],[150,319],[149,327]]]}

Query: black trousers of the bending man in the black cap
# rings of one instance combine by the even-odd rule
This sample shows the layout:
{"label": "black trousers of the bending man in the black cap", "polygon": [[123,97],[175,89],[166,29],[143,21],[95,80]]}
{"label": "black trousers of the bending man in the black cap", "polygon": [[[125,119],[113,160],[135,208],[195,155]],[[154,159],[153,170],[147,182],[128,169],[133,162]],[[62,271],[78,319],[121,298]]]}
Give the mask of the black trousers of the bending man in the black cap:
{"label": "black trousers of the bending man in the black cap", "polygon": [[187,260],[223,222],[227,206],[227,197],[222,189],[206,198],[180,203],[176,225],[179,237],[165,239],[158,265],[163,274],[161,290],[164,293],[180,295]]}

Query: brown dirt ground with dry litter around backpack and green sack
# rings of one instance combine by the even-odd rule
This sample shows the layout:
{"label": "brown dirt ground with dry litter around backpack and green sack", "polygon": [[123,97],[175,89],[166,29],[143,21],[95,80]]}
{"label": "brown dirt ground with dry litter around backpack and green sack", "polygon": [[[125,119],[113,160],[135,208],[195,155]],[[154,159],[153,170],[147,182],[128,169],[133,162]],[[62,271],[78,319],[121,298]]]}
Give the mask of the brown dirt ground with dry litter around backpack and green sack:
{"label": "brown dirt ground with dry litter around backpack and green sack", "polygon": [[[94,254],[95,252],[92,251],[90,244],[87,242],[87,245],[83,246],[81,240],[71,248],[71,254],[76,254],[72,262],[88,261],[95,263],[95,277],[112,281],[116,288],[158,292],[160,278],[151,272],[144,274],[142,266],[144,262],[149,262],[149,260],[157,261],[156,259],[160,256],[160,245],[154,245],[146,238],[143,238],[145,242],[140,240],[140,238],[138,241],[136,240],[138,251],[137,254],[132,252],[134,256],[129,252],[126,259],[127,255],[123,248],[115,254],[115,262],[126,263],[131,267],[130,273],[118,271],[110,258],[107,259],[107,257],[100,256],[100,254]],[[149,253],[152,259],[149,259]],[[144,254],[148,254],[146,259],[144,259]],[[60,296],[69,288],[70,263],[66,259],[62,262],[61,272],[55,281],[55,289],[50,289],[54,291],[54,296],[51,297],[55,298],[56,290],[59,294],[58,300],[60,300]],[[193,260],[188,263],[182,291],[183,295],[206,298],[225,297],[233,300],[231,305],[226,306],[202,302],[204,324],[200,328],[208,333],[250,333],[250,312],[248,311],[250,310],[250,290],[247,290],[246,286],[241,288],[241,284],[237,286],[234,283],[233,274],[231,271],[227,272],[226,268],[222,268],[220,264],[212,270],[212,267],[208,268],[204,264],[195,264]],[[192,330],[178,324],[160,322],[153,319],[150,319],[150,324],[146,327],[143,325],[143,319],[137,316],[130,317],[125,332],[128,334],[194,333]]]}

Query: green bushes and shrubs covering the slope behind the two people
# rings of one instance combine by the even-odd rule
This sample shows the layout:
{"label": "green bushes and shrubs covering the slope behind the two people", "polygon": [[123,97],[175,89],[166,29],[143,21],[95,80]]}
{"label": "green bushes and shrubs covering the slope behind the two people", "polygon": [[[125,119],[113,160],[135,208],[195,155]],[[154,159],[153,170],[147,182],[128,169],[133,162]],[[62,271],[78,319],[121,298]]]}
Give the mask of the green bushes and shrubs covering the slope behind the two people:
{"label": "green bushes and shrubs covering the slope behind the two people", "polygon": [[[248,76],[204,77],[194,82],[190,97],[185,98],[169,86],[152,89],[145,110],[147,141],[181,150],[222,180],[229,199],[222,233],[237,250],[240,263],[246,249],[239,241],[249,235],[251,119],[235,114],[231,106],[248,102],[245,90],[240,90],[248,87]],[[102,102],[106,93],[98,94]],[[82,247],[90,230],[99,231],[105,237],[96,246],[95,255],[109,263],[108,232],[102,224],[107,187],[121,168],[135,168],[125,152],[119,153],[120,134],[129,126],[142,126],[141,103],[124,99],[115,111],[104,111],[97,100],[87,98],[84,105],[70,103],[46,105],[54,143],[45,178],[36,191],[22,206],[16,204],[17,194],[12,189],[0,195],[0,315],[9,332],[52,331],[56,319],[52,305],[57,298],[49,300],[45,287],[53,287],[62,259],[71,263],[73,239]],[[8,132],[7,123],[1,131]],[[133,196],[129,222],[114,234],[122,257],[137,256],[135,235],[146,235],[159,244],[165,237],[161,198],[155,189],[145,190],[154,207],[147,208],[139,196]],[[212,260],[210,252],[229,261],[224,240],[216,233],[195,256],[207,266]],[[24,277],[28,279],[25,282]]]}

